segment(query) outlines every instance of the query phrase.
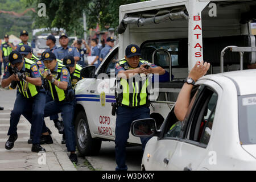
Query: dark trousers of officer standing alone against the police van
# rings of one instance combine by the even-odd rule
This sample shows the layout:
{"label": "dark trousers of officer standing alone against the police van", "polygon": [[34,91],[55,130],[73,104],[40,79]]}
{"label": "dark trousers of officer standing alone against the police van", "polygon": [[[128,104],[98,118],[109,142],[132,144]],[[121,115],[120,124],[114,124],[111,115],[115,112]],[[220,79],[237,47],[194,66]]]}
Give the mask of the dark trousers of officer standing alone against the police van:
{"label": "dark trousers of officer standing alone against the police van", "polygon": [[[116,171],[127,170],[126,143],[129,138],[131,123],[137,119],[150,118],[150,109],[148,107],[129,108],[119,106],[117,109],[117,120],[115,122],[115,162]],[[141,138],[142,148],[146,146],[150,138]]]}

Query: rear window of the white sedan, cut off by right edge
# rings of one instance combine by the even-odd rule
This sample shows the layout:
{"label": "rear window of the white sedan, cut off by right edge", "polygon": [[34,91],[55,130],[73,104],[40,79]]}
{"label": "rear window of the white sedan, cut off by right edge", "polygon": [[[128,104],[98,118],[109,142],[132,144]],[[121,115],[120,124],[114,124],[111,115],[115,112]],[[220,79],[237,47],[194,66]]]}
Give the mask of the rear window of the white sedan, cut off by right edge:
{"label": "rear window of the white sedan, cut off by right edge", "polygon": [[256,144],[256,94],[238,97],[239,134],[242,144]]}

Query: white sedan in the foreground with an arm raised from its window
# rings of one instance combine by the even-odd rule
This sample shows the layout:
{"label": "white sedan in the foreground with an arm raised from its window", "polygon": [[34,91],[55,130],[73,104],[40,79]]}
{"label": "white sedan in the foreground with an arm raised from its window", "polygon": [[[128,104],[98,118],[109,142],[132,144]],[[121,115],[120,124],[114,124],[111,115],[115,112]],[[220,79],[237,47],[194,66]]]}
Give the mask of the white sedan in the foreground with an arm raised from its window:
{"label": "white sedan in the foreground with an arm raised from its window", "polygon": [[154,119],[133,122],[133,135],[154,136],[142,170],[256,170],[256,70],[204,76],[191,98],[183,122],[174,109],[160,130]]}

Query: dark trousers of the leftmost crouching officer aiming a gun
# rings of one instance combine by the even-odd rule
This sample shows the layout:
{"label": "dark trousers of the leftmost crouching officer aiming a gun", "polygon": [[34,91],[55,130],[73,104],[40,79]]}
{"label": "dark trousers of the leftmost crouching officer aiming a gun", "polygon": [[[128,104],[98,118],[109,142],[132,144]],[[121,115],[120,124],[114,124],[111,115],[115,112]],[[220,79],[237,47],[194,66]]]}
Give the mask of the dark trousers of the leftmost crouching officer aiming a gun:
{"label": "dark trousers of the leftmost crouching officer aiming a gun", "polygon": [[25,98],[22,96],[22,94],[18,93],[14,103],[14,108],[11,111],[8,135],[17,135],[17,125],[19,123],[20,115],[23,115],[28,122],[31,123],[31,128],[34,131],[32,143],[40,143],[42,125],[44,122],[43,108],[45,104],[46,93],[44,92],[39,92],[32,98]]}

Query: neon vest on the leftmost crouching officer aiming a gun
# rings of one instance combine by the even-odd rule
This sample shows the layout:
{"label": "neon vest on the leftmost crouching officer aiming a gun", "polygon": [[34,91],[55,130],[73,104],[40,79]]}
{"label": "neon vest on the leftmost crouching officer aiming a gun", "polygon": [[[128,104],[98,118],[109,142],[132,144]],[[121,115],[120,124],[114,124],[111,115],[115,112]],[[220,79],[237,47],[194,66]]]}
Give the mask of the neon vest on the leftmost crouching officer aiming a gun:
{"label": "neon vest on the leftmost crouching officer aiming a gun", "polygon": [[[25,75],[27,77],[31,76],[31,65],[35,64],[34,61],[31,61],[29,59],[24,58],[24,63],[25,64]],[[35,66],[35,65],[34,65]],[[10,67],[10,63],[9,63],[9,67]],[[38,68],[39,71],[39,68]],[[39,71],[40,72],[40,71]],[[33,84],[31,84],[30,82],[24,82],[23,80],[18,81],[18,88],[19,88],[19,92],[21,94],[23,94],[24,97],[26,98],[31,98],[34,97],[36,94],[38,94],[40,87],[39,86],[35,86]]]}

